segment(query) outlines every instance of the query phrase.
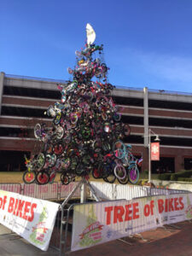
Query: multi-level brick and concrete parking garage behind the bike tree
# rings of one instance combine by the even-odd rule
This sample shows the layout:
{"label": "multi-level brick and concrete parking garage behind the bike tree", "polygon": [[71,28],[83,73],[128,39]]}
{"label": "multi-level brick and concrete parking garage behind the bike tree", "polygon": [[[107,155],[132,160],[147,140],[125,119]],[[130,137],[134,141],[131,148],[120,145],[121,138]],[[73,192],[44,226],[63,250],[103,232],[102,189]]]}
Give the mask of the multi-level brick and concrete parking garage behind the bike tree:
{"label": "multi-level brick and concrete parking garage behind the bike tree", "polygon": [[[0,73],[0,171],[24,170],[23,155],[38,151],[33,128],[39,121],[51,124],[44,111],[60,101],[58,83],[65,81]],[[125,143],[143,155],[142,171],[148,170],[149,129],[160,136],[160,161],[152,161],[152,173],[192,169],[192,94],[117,87],[113,99],[131,126]]]}

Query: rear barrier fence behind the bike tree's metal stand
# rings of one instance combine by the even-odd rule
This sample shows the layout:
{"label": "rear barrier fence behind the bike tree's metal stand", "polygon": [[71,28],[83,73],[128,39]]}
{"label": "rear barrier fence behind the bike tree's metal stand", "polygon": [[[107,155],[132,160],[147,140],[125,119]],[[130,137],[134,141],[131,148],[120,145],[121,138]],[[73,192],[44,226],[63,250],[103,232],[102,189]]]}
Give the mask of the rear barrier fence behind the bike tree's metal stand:
{"label": "rear barrier fence behind the bike tree's metal stand", "polygon": [[[60,200],[66,198],[78,183],[69,183],[67,186],[61,183],[52,183],[40,186],[36,183],[0,183],[0,189],[21,195],[31,196],[44,200]],[[179,189],[156,189],[137,185],[121,185],[110,183],[90,182],[96,195],[103,200],[131,200],[143,196],[152,195],[173,195],[177,193],[188,193],[186,190]],[[73,197],[80,197],[81,189],[77,189]],[[191,192],[189,192],[191,193]],[[91,193],[90,193],[91,196]]]}

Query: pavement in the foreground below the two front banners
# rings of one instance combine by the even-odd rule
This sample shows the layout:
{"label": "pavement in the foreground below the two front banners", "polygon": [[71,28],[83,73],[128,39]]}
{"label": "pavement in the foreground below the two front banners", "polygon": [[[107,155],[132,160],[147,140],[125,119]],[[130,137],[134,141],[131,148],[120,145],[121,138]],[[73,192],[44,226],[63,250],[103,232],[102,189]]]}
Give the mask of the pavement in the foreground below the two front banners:
{"label": "pavement in the foreground below the two front banners", "polygon": [[[55,236],[54,233],[53,236]],[[68,236],[68,238],[70,238],[70,236]],[[59,255],[59,253],[53,247],[49,247],[48,251],[43,252],[15,233],[11,233],[9,229],[0,224],[0,255],[52,256]],[[62,253],[62,255],[64,255],[64,253]],[[157,230],[149,230],[137,234],[136,236],[110,241],[77,252],[68,251],[66,255],[192,256],[192,222],[185,221],[174,225],[166,225]]]}

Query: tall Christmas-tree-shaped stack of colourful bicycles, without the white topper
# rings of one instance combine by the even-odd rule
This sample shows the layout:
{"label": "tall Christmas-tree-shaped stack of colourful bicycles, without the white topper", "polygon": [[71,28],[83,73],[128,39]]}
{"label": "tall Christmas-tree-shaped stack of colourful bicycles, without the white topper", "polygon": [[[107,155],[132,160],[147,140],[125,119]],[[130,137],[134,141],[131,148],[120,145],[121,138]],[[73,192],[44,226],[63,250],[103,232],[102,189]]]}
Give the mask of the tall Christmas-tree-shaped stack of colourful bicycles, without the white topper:
{"label": "tall Christmas-tree-shaped stack of colourful bicycles, without the white topper", "polygon": [[105,182],[137,183],[138,166],[131,145],[123,143],[130,126],[121,121],[121,108],[111,96],[108,67],[103,61],[103,45],[85,44],[76,51],[77,64],[68,68],[73,76],[66,85],[57,84],[61,102],[49,106],[45,114],[52,127],[37,124],[34,136],[41,142],[38,154],[26,159],[25,183],[53,183],[57,172],[67,185],[75,177],[102,178]]}

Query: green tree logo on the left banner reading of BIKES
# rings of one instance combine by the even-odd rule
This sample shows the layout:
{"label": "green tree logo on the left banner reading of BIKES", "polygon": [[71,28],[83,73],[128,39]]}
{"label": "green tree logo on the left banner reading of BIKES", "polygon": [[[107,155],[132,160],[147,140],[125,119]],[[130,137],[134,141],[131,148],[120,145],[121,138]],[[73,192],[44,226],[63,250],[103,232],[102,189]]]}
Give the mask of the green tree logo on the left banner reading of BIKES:
{"label": "green tree logo on the left banner reading of BIKES", "polygon": [[43,245],[45,242],[45,235],[48,231],[46,228],[46,219],[48,218],[48,211],[47,208],[44,207],[43,212],[39,216],[38,224],[32,227],[32,234],[30,235],[30,240],[33,241],[35,244]]}

